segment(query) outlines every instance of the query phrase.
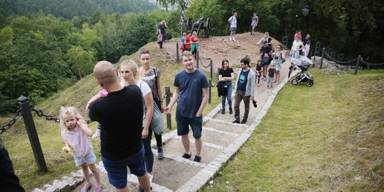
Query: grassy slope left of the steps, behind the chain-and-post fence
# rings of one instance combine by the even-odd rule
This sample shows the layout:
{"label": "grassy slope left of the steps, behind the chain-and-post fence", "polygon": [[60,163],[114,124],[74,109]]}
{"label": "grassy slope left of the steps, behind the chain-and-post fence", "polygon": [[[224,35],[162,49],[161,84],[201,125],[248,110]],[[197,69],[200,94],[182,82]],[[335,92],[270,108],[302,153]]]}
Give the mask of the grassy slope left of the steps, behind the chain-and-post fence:
{"label": "grassy slope left of the steps, behind the chain-and-post fence", "polygon": [[[160,56],[156,49],[157,46],[155,48],[153,42],[146,45],[146,47],[150,49],[152,53],[152,65],[158,67],[162,72],[162,86],[165,87],[166,84],[169,84],[171,86],[171,92],[173,92],[174,75],[183,69],[182,64],[175,63],[174,58],[168,55]],[[140,63],[138,60],[138,53],[130,56],[123,56],[120,61],[131,58],[133,58],[137,63]],[[117,66],[118,63],[116,63],[116,67]],[[209,76],[207,72],[206,74]],[[216,79],[214,79],[214,82],[215,81]],[[88,120],[88,115],[84,110],[86,103],[100,90],[101,88],[97,85],[94,77],[89,75],[67,90],[48,98],[38,107],[41,108],[46,114],[58,116],[60,106],[75,106],[79,109],[84,119]],[[221,101],[221,98],[218,98],[216,95],[217,89],[212,88],[212,103],[206,105],[203,114],[207,114]],[[175,110],[176,105],[173,108],[173,114],[175,114]],[[26,191],[31,191],[36,187],[40,188],[46,183],[51,183],[54,179],[61,179],[62,176],[69,176],[71,172],[75,172],[79,169],[79,167],[75,166],[72,156],[64,156],[61,154],[61,147],[64,143],[60,136],[59,125],[53,121],[47,121],[44,118],[39,118],[38,116],[35,116],[34,120],[42,151],[49,169],[48,173],[41,173],[37,169],[22,119],[16,122],[12,129],[3,134],[6,147],[13,161],[15,173],[19,177],[20,182],[25,187]],[[9,118],[1,118],[0,124],[6,121],[9,121]],[[93,122],[89,126],[93,131],[95,131],[97,123]],[[175,115],[172,115],[172,127],[173,130],[176,129]],[[169,130],[165,128],[165,132],[168,131]],[[101,161],[99,153],[100,141],[98,139],[93,140],[93,147],[94,152],[98,157],[97,162]],[[38,179],[36,179],[37,176]]]}

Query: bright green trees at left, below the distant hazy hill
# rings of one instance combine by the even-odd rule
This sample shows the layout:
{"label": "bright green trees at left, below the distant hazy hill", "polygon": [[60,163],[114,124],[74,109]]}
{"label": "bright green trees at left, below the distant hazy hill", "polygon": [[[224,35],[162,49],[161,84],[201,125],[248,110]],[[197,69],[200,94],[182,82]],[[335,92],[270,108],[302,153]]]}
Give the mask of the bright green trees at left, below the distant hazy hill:
{"label": "bright green trees at left, below the distant hazy hill", "polygon": [[[117,62],[157,39],[155,25],[169,18],[178,26],[175,11],[92,16],[72,19],[43,11],[28,16],[2,17],[0,29],[0,114],[14,113],[16,98],[33,104],[64,90],[89,75],[99,60]],[[174,23],[176,22],[176,23]],[[169,28],[169,38],[173,29]]]}

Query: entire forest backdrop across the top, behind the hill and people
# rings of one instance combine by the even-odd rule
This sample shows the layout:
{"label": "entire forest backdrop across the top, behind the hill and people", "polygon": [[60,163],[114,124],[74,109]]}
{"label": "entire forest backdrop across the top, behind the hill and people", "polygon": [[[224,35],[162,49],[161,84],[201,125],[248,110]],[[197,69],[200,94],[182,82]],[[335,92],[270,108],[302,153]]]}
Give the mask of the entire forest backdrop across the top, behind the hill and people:
{"label": "entire forest backdrop across the top, behind the hill and people", "polygon": [[[313,42],[321,41],[338,54],[384,61],[380,51],[384,46],[382,1],[157,2],[176,4],[179,10],[155,9],[147,0],[0,0],[0,115],[14,113],[20,95],[39,103],[90,74],[95,62],[117,62],[122,55],[155,41],[155,25],[165,17],[167,37],[179,37],[181,8],[186,9],[185,19],[191,17],[194,22],[209,17],[215,36],[229,35],[227,19],[233,12],[238,13],[237,32],[249,32],[253,12],[257,12],[256,30],[268,31],[277,39],[288,36],[289,44],[295,31],[302,30],[311,34]],[[180,6],[183,2],[189,2],[188,6]],[[301,9],[306,5],[310,12],[304,16]]]}

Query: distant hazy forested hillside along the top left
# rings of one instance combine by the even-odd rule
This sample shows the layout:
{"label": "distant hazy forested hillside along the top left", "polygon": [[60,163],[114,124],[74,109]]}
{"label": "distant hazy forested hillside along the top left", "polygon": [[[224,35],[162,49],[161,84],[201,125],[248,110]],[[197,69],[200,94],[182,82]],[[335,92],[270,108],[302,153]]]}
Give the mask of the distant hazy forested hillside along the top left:
{"label": "distant hazy forested hillside along the top left", "polygon": [[143,12],[156,9],[148,0],[0,0],[3,16],[27,16],[42,10],[46,14],[72,18],[91,16],[96,10],[103,14]]}

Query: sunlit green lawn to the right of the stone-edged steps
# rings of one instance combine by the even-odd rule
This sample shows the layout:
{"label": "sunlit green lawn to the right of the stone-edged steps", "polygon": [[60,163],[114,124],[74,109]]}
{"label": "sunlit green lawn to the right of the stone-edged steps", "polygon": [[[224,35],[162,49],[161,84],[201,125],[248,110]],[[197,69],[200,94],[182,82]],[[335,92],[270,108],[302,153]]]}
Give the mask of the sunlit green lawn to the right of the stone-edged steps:
{"label": "sunlit green lawn to the right of the stone-edged steps", "polygon": [[384,71],[311,72],[200,191],[384,191]]}

